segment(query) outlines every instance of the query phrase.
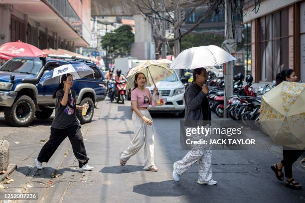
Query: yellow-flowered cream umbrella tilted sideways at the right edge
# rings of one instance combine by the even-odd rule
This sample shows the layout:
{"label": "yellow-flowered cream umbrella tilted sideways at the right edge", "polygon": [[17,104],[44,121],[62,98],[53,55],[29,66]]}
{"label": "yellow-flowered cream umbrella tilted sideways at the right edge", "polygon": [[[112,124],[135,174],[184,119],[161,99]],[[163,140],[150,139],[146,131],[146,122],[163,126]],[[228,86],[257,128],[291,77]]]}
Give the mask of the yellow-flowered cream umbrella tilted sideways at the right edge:
{"label": "yellow-flowered cream umbrella tilted sideways at the right edge", "polygon": [[283,146],[305,147],[305,84],[282,82],[262,97],[260,123]]}

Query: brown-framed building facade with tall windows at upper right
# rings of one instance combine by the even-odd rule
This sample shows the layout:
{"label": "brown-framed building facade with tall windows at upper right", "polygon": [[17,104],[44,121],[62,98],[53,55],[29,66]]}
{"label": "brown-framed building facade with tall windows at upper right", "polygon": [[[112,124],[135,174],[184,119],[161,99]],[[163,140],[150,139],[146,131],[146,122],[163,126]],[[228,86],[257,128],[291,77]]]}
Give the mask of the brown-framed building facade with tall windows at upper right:
{"label": "brown-framed building facade with tall windows at upper right", "polygon": [[247,65],[255,82],[272,82],[283,69],[305,81],[305,1],[254,0],[244,6]]}

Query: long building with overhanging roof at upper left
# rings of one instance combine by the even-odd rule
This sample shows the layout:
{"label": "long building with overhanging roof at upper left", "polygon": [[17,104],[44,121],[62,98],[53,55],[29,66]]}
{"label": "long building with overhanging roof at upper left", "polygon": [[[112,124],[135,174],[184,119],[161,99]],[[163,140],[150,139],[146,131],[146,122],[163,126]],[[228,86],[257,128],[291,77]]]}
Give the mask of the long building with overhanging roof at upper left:
{"label": "long building with overhanging roof at upper left", "polygon": [[0,45],[22,41],[40,49],[90,45],[91,0],[1,0]]}

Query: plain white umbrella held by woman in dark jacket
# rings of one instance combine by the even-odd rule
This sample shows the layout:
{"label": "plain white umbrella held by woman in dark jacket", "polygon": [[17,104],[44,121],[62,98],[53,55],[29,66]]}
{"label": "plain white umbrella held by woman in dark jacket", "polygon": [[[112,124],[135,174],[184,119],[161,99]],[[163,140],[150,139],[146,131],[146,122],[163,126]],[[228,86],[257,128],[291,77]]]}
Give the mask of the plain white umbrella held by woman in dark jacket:
{"label": "plain white umbrella held by woman in dark jacket", "polygon": [[200,46],[182,51],[171,63],[170,69],[196,69],[220,66],[234,60],[236,58],[218,46]]}

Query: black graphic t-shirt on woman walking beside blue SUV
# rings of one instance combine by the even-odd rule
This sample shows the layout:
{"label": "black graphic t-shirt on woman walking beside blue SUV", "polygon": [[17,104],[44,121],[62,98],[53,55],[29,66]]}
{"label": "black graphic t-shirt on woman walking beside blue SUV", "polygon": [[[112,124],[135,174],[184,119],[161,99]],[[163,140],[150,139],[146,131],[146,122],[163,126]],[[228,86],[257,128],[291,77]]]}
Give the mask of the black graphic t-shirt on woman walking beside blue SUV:
{"label": "black graphic t-shirt on woman walking beside blue SUV", "polygon": [[55,104],[55,117],[51,127],[63,129],[75,125],[80,125],[79,120],[76,117],[76,93],[71,90],[71,94],[68,95],[68,103],[63,106],[61,100],[64,96],[64,90],[59,90],[56,93],[56,104]]}

